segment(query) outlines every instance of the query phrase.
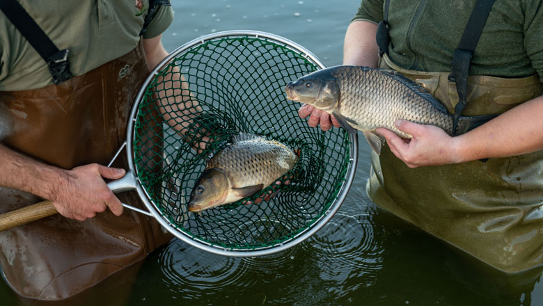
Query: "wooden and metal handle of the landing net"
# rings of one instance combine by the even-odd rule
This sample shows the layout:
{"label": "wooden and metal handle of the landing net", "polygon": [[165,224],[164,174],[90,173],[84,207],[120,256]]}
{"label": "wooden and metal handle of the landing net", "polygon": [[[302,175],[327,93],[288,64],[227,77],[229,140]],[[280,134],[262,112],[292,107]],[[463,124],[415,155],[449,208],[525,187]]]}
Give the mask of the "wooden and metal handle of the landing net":
{"label": "wooden and metal handle of the landing net", "polygon": [[[109,184],[107,184],[107,186],[109,187],[109,189],[111,189],[111,191],[113,191],[113,193],[131,191],[136,188],[136,178],[134,177],[134,173],[129,170],[122,179],[116,179],[115,181],[111,181],[109,182]],[[148,211],[129,206],[125,203],[122,204],[123,207],[126,207],[127,209],[132,209],[134,211],[138,211],[141,214],[152,216],[152,214],[150,214],[150,212]],[[0,232],[3,230],[8,230],[12,227],[40,220],[41,218],[53,216],[54,214],[58,214],[58,211],[56,211],[53,202],[49,200],[38,202],[36,204],[31,204],[20,209],[15,209],[13,211],[0,215]]]}

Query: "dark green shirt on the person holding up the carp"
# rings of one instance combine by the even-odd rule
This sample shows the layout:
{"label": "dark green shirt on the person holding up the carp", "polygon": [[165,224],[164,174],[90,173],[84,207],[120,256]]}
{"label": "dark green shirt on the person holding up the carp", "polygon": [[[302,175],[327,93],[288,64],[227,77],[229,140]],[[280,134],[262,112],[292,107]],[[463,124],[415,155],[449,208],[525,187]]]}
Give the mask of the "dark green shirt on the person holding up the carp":
{"label": "dark green shirt on the person holding up the carp", "polygon": [[[449,72],[475,0],[391,0],[389,56],[402,68]],[[384,0],[362,0],[353,20],[383,19]],[[473,54],[470,74],[543,81],[540,0],[496,1]]]}

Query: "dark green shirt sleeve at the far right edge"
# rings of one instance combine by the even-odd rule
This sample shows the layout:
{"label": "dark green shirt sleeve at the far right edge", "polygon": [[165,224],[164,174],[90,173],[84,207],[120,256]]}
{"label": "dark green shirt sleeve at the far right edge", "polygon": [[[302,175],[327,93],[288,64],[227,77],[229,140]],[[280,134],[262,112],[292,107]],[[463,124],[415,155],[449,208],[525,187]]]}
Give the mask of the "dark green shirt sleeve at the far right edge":
{"label": "dark green shirt sleeve at the far right edge", "polygon": [[543,83],[543,3],[528,0],[524,12],[524,48]]}

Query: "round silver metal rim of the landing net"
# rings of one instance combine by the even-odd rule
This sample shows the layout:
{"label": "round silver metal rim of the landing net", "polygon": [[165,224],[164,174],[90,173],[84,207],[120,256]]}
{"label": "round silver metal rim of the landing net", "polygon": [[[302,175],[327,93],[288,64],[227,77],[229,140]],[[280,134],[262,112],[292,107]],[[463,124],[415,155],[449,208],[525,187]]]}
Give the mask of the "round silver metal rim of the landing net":
{"label": "round silver metal rim of the landing net", "polygon": [[157,222],[162,225],[168,232],[173,234],[176,238],[180,239],[184,243],[188,243],[191,246],[194,246],[195,248],[199,248],[200,250],[204,250],[206,252],[211,252],[213,254],[217,255],[226,255],[230,257],[257,257],[257,256],[264,256],[264,255],[271,255],[276,252],[281,252],[283,250],[286,250],[288,248],[291,248],[294,245],[297,245],[301,243],[302,241],[305,241],[310,236],[315,234],[318,230],[320,230],[328,221],[333,217],[334,214],[336,214],[336,211],[338,211],[339,207],[347,197],[347,193],[349,191],[349,188],[352,185],[354,174],[356,171],[356,164],[358,161],[358,137],[357,134],[349,134],[349,166],[347,167],[347,172],[345,174],[345,180],[343,181],[343,184],[340,186],[340,190],[338,191],[338,196],[336,197],[336,200],[330,205],[329,209],[326,211],[325,214],[323,214],[319,219],[313,223],[310,227],[306,228],[306,230],[299,232],[296,236],[293,236],[292,239],[286,242],[277,243],[276,245],[268,245],[264,248],[254,248],[254,249],[242,249],[242,248],[225,248],[221,245],[214,245],[212,243],[209,243],[207,241],[202,241],[200,239],[196,239],[193,236],[184,233],[180,230],[176,230],[175,227],[171,224],[170,221],[168,221],[168,218],[162,214],[159,207],[157,207],[157,204],[152,202],[150,200],[150,195],[145,191],[145,188],[143,188],[141,181],[139,179],[139,176],[137,174],[137,168],[134,165],[134,138],[136,136],[136,129],[135,129],[135,122],[139,111],[139,104],[141,100],[143,99],[145,95],[145,90],[149,86],[149,84],[152,82],[153,79],[155,79],[156,75],[160,70],[162,70],[168,63],[172,61],[175,56],[178,56],[184,51],[187,51],[191,49],[192,47],[203,45],[205,42],[209,40],[217,40],[225,37],[248,37],[248,38],[255,38],[255,39],[266,39],[268,41],[276,42],[284,47],[287,47],[288,49],[301,54],[301,56],[304,56],[308,59],[308,61],[313,61],[315,65],[317,65],[320,69],[326,68],[324,63],[317,58],[314,54],[312,54],[308,49],[302,47],[301,45],[297,44],[296,42],[292,42],[291,40],[288,40],[287,38],[283,38],[279,35],[275,35],[272,33],[266,33],[262,31],[254,31],[254,30],[231,30],[231,31],[221,31],[217,33],[212,33],[208,35],[203,35],[199,38],[196,38],[194,40],[191,40],[190,42],[187,42],[186,44],[178,47],[174,51],[172,51],[164,60],[162,60],[156,67],[153,69],[147,79],[143,82],[141,85],[141,88],[136,95],[136,99],[134,99],[134,105],[132,106],[132,110],[129,115],[129,122],[127,125],[127,163],[130,170],[134,171],[134,177],[136,179],[136,191],[139,194],[139,197],[141,198],[143,204],[145,204],[145,207],[148,209],[150,214],[152,215]]}

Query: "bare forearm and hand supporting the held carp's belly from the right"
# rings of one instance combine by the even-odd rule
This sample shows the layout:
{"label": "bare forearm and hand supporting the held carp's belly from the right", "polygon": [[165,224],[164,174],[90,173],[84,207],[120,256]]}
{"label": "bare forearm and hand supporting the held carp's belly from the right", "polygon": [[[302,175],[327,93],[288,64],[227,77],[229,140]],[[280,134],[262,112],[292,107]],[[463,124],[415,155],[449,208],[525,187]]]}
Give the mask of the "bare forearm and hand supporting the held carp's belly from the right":
{"label": "bare forearm and hand supporting the held carp's belly from the right", "polygon": [[414,136],[411,140],[404,140],[388,129],[377,131],[410,168],[436,166],[543,150],[542,114],[543,97],[537,97],[456,137],[448,136],[438,127],[408,121],[397,124],[400,130]]}

